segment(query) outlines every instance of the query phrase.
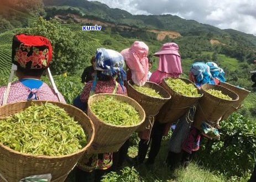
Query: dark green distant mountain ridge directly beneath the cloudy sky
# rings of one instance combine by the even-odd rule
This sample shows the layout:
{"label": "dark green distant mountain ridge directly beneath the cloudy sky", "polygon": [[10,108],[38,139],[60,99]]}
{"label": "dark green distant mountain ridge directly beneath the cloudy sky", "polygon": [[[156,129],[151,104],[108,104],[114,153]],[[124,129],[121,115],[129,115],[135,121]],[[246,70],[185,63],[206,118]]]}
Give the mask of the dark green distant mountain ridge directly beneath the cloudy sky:
{"label": "dark green distant mountain ridge directly beneath the cloudy sky", "polygon": [[[195,20],[182,19],[176,15],[132,15],[125,10],[118,8],[109,8],[106,4],[97,1],[85,0],[43,0],[51,17],[57,13],[56,8],[63,8],[58,13],[70,13],[67,7],[78,8],[77,14],[85,18],[100,20],[103,22],[114,23],[119,25],[129,25],[140,29],[156,29],[176,31],[181,36],[201,36],[207,35],[209,39],[220,38],[224,44],[232,42],[229,39],[245,41],[247,46],[256,46],[256,37],[250,34],[242,33],[232,29],[221,30],[215,26],[198,23]],[[54,7],[53,7],[54,6]],[[54,13],[55,12],[55,13]],[[74,13],[74,11],[72,12]]]}

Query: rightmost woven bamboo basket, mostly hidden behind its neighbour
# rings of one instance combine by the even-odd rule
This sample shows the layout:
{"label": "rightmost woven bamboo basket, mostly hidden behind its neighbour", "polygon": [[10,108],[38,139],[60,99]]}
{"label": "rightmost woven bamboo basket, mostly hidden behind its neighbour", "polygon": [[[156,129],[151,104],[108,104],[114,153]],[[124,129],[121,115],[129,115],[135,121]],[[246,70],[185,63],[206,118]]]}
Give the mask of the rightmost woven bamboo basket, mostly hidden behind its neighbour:
{"label": "rightmost woven bamboo basket, mostly hidden behind its neighbour", "polygon": [[227,112],[223,115],[222,119],[226,120],[228,118],[228,116],[233,113],[233,111],[235,111],[235,110],[237,110],[237,108],[239,108],[242,101],[248,96],[250,91],[243,89],[243,88],[238,88],[238,87],[236,87],[232,84],[226,83],[226,82],[221,82],[220,85],[229,90],[232,90],[234,93],[236,93],[239,96],[238,100],[236,102],[234,102],[234,104],[229,108],[229,110],[227,110]]}

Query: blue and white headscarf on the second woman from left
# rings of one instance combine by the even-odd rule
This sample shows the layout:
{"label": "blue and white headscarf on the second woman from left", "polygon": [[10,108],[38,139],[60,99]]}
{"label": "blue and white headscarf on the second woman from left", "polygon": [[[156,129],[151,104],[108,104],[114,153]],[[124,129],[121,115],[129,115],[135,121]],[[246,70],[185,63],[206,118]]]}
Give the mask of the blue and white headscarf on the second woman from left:
{"label": "blue and white headscarf on the second woman from left", "polygon": [[111,49],[100,48],[96,51],[95,60],[96,70],[108,76],[118,76],[119,83],[124,90],[122,78],[126,79],[126,72],[123,70],[124,59],[121,53]]}

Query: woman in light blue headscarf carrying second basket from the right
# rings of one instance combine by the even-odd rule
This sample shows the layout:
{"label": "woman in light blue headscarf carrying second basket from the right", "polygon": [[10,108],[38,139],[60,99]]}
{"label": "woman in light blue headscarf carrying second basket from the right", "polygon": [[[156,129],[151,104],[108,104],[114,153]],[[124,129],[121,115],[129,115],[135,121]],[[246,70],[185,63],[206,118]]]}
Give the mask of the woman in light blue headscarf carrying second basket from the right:
{"label": "woman in light blue headscarf carrying second basket from the right", "polygon": [[[217,84],[218,79],[212,77],[210,67],[204,62],[193,63],[189,73],[190,81],[194,82],[198,88],[202,84]],[[182,116],[174,129],[170,138],[169,153],[166,164],[175,169],[180,163],[187,166],[191,153],[199,149],[201,131],[193,126],[195,106]]]}

